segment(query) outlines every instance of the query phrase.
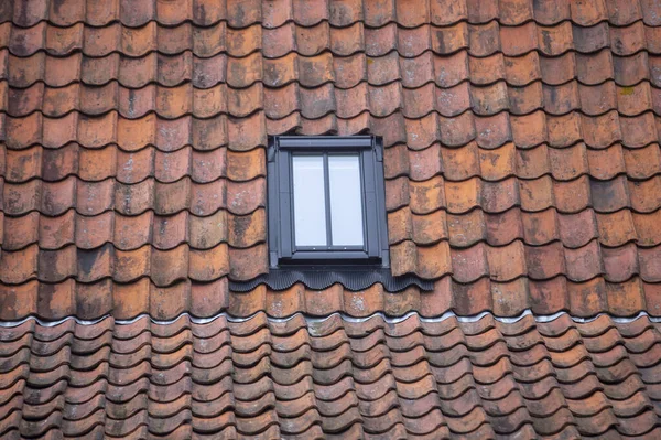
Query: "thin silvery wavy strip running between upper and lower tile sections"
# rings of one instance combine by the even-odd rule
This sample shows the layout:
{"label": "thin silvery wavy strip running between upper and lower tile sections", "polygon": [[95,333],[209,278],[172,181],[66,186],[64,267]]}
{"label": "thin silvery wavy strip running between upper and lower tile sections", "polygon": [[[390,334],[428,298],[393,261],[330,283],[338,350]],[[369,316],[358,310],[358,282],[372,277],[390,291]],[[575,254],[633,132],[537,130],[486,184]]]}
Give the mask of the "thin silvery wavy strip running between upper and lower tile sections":
{"label": "thin silvery wavy strip running between upper and lower tile sections", "polygon": [[[183,319],[183,318],[188,318],[191,320],[191,322],[196,323],[196,324],[208,324],[208,323],[210,323],[210,322],[213,322],[213,321],[215,321],[215,320],[217,320],[219,318],[225,318],[229,322],[246,322],[246,321],[250,321],[250,320],[254,319],[256,316],[258,316],[258,315],[260,315],[263,312],[257,312],[257,313],[253,313],[253,314],[251,314],[249,316],[235,316],[235,315],[231,315],[231,314],[229,314],[227,312],[220,312],[218,314],[215,314],[215,315],[208,316],[208,318],[198,318],[198,316],[194,316],[194,315],[192,315],[189,313],[182,313],[182,314],[177,315],[176,318],[174,318],[172,320],[156,320],[156,319],[151,318],[149,314],[143,313],[143,314],[139,314],[136,318],[131,318],[131,319],[128,319],[128,320],[116,319],[115,320],[115,324],[117,324],[117,325],[127,325],[127,324],[132,324],[132,323],[134,323],[134,322],[137,322],[139,320],[142,320],[142,319],[149,319],[154,324],[167,325],[167,324],[173,324],[173,323],[175,323],[176,321],[178,321],[180,319]],[[375,319],[375,318],[381,318],[388,324],[397,324],[397,323],[403,322],[403,321],[405,321],[405,320],[408,320],[408,319],[410,319],[412,316],[418,316],[418,319],[420,321],[422,321],[422,322],[429,322],[429,323],[442,322],[442,321],[445,321],[445,320],[451,319],[451,318],[455,318],[459,322],[470,323],[470,322],[477,322],[477,321],[479,321],[479,320],[481,320],[481,319],[484,319],[486,316],[491,316],[491,318],[494,318],[494,320],[496,320],[498,322],[502,322],[505,324],[513,324],[513,323],[516,323],[516,322],[518,322],[518,321],[520,321],[523,318],[529,316],[529,315],[533,316],[534,320],[535,320],[535,322],[542,322],[542,323],[543,322],[554,321],[554,320],[556,320],[559,318],[562,318],[564,315],[570,316],[572,319],[572,321],[574,321],[576,323],[593,322],[593,321],[597,320],[598,318],[600,318],[603,315],[609,316],[617,324],[628,324],[628,323],[635,322],[636,320],[639,320],[639,319],[644,318],[644,316],[649,318],[649,320],[651,322],[661,323],[661,316],[653,316],[653,315],[651,315],[651,314],[649,314],[649,313],[647,313],[644,311],[641,311],[638,314],[632,315],[632,316],[615,316],[615,315],[611,315],[609,313],[598,313],[598,314],[596,314],[594,316],[583,318],[583,316],[573,316],[573,315],[571,315],[567,312],[557,312],[557,313],[553,313],[553,314],[534,314],[534,313],[532,313],[532,311],[530,309],[525,309],[521,314],[519,314],[517,316],[497,316],[497,315],[492,314],[491,312],[481,312],[481,313],[474,314],[474,315],[458,315],[458,314],[449,311],[449,312],[443,313],[440,316],[432,316],[432,318],[422,316],[418,312],[409,312],[409,313],[405,313],[405,314],[403,314],[401,316],[389,316],[389,315],[387,315],[387,314],[384,314],[382,312],[377,312],[377,313],[370,314],[369,316],[362,316],[362,318],[351,316],[351,315],[348,315],[346,313],[336,312],[336,313],[330,313],[330,314],[328,314],[326,316],[311,316],[311,315],[307,315],[305,313],[294,313],[294,314],[292,314],[290,316],[285,316],[285,318],[267,316],[267,319],[270,322],[282,323],[282,322],[290,321],[290,320],[292,320],[294,318],[297,318],[300,315],[305,319],[305,321],[307,322],[308,325],[318,325],[319,323],[323,323],[324,321],[329,320],[329,319],[332,319],[334,316],[340,316],[340,319],[343,321],[353,322],[353,323],[367,322],[367,321],[369,321],[371,319]],[[25,323],[25,322],[28,322],[30,320],[36,321],[36,323],[40,324],[40,325],[42,325],[42,326],[56,326],[56,325],[59,325],[59,324],[65,323],[67,321],[75,321],[77,324],[80,324],[80,325],[94,325],[94,324],[98,324],[99,322],[101,322],[104,320],[107,320],[107,319],[112,319],[112,316],[109,315],[109,314],[106,314],[104,316],[100,316],[100,318],[97,318],[97,319],[94,319],[94,320],[83,320],[83,319],[79,319],[79,318],[76,318],[76,316],[65,316],[65,318],[62,318],[59,320],[44,320],[44,319],[41,319],[39,316],[30,315],[30,316],[25,316],[25,318],[23,318],[21,320],[15,320],[15,321],[0,321],[0,326],[2,326],[2,328],[13,328],[13,326],[21,325],[21,324],[23,324],[23,323]]]}

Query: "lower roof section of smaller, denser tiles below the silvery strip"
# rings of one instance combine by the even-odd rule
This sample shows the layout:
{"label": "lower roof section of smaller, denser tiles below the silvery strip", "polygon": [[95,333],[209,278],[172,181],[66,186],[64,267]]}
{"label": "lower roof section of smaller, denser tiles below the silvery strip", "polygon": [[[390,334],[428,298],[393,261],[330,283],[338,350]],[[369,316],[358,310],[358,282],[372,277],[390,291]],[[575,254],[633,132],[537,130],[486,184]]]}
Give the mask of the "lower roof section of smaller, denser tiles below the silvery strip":
{"label": "lower roof section of smaller, denser tiles below the silvery strip", "polygon": [[0,328],[0,436],[658,438],[647,316]]}

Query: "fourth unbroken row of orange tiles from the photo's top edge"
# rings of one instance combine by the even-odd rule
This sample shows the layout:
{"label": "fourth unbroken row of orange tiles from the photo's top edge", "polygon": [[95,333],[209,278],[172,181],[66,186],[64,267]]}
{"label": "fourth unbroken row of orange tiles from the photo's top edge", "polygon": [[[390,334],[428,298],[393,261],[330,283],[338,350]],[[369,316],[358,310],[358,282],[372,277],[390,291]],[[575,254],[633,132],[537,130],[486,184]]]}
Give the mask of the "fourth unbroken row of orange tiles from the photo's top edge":
{"label": "fourth unbroken row of orange tiles from the photo's top edge", "polygon": [[0,101],[7,114],[15,118],[34,112],[58,118],[71,114],[94,117],[117,111],[122,119],[133,120],[150,114],[166,120],[187,115],[208,119],[219,115],[241,118],[261,110],[273,120],[294,112],[307,119],[332,112],[344,119],[362,112],[387,117],[397,111],[408,119],[420,119],[432,112],[452,118],[467,111],[478,117],[501,111],[523,116],[540,109],[550,116],[576,111],[590,117],[617,111],[621,117],[635,117],[650,110],[661,115],[661,88],[652,87],[648,82],[620,87],[613,81],[597,86],[584,86],[576,81],[561,86],[535,82],[525,87],[509,87],[505,82],[488,86],[460,83],[452,88],[427,83],[414,89],[402,88],[399,82],[383,86],[361,82],[349,89],[337,88],[332,83],[304,88],[296,82],[280,88],[256,83],[245,89],[234,89],[225,84],[197,89],[185,83],[176,87],[151,84],[136,90],[117,82],[101,87],[73,84],[64,88],[36,83],[25,89],[8,87],[1,82]]}

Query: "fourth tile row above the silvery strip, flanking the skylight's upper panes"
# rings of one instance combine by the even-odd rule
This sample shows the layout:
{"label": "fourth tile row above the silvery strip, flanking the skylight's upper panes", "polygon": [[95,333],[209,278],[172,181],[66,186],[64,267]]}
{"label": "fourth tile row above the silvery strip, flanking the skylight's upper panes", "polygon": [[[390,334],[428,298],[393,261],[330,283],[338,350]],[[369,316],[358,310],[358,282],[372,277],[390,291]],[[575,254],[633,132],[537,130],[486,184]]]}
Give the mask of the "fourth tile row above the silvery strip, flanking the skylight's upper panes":
{"label": "fourth tile row above the silvery strip, flanking the skylight's upper panes", "polygon": [[[453,182],[441,175],[415,182],[402,176],[386,182],[386,207],[388,212],[409,207],[416,215],[440,210],[465,214],[475,208],[499,214],[516,206],[525,212],[555,207],[563,214],[578,214],[588,207],[599,214],[624,208],[651,214],[661,207],[660,187],[660,175],[643,181],[628,180],[625,175],[598,181],[583,175],[567,182],[555,181],[550,175],[533,180],[507,178],[498,182],[479,178]],[[8,216],[22,216],[33,211],[58,216],[72,208],[86,216],[110,210],[131,216],[147,211],[158,215],[189,211],[197,216],[208,216],[219,210],[247,215],[264,206],[266,180],[232,182],[219,179],[204,184],[192,182],[188,176],[174,183],[149,178],[136,184],[123,184],[116,179],[86,182],[76,176],[59,182],[33,179],[9,183],[0,180],[0,194],[3,194],[2,211]]]}

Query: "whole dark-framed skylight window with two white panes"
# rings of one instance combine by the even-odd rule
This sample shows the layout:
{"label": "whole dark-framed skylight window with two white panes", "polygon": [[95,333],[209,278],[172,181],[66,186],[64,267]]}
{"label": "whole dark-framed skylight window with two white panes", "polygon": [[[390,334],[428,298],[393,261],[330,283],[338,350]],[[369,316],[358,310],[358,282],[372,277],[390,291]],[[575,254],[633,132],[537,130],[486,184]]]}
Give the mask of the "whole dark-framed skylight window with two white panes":
{"label": "whole dark-framed skylight window with two white panes", "polygon": [[268,181],[271,267],[388,266],[382,152],[376,138],[275,137]]}

